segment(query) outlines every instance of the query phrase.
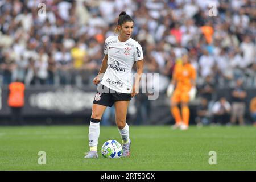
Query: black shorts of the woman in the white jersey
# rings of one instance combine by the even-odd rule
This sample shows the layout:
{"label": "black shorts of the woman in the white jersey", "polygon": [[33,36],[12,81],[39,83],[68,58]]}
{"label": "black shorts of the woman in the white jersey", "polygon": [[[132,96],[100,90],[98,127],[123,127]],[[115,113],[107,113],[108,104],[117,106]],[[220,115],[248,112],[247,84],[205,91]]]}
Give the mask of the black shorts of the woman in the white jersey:
{"label": "black shorts of the woman in the white jersey", "polygon": [[100,92],[98,91],[94,97],[93,104],[99,104],[104,106],[112,107],[115,101],[130,101],[131,100],[131,94],[130,93],[117,93],[112,89],[107,88],[104,85],[99,85],[100,88],[104,89],[104,92],[102,92],[102,89]]}

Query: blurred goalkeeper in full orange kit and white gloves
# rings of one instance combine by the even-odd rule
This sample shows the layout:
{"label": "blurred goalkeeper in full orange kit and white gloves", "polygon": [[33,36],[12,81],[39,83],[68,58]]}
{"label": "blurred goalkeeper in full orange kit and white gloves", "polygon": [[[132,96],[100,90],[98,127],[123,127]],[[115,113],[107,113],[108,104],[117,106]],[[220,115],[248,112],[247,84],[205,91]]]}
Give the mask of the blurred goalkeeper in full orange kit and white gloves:
{"label": "blurred goalkeeper in full orange kit and white gloves", "polygon": [[[188,55],[181,57],[176,63],[172,80],[167,88],[167,96],[171,100],[171,113],[175,119],[173,129],[187,130],[189,125],[188,102],[196,96],[196,69],[189,63]],[[181,112],[179,105],[181,106]]]}

